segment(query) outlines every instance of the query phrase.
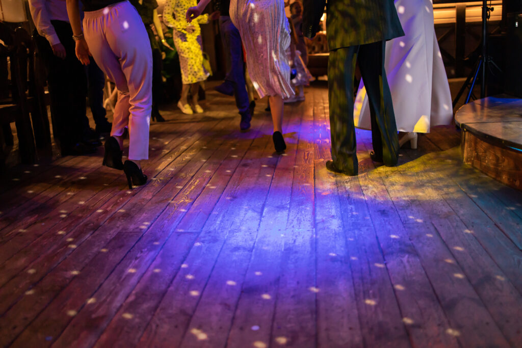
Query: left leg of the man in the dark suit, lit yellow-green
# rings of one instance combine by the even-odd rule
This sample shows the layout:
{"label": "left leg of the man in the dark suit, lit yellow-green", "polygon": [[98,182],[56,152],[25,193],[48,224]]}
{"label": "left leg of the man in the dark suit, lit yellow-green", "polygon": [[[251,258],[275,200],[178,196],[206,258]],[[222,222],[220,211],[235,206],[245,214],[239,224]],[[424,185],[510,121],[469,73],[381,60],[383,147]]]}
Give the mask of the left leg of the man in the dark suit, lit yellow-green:
{"label": "left leg of the man in the dark suit, lit yellow-green", "polygon": [[330,107],[331,158],[347,174],[357,175],[357,143],[353,125],[353,73],[359,46],[330,51],[328,102]]}

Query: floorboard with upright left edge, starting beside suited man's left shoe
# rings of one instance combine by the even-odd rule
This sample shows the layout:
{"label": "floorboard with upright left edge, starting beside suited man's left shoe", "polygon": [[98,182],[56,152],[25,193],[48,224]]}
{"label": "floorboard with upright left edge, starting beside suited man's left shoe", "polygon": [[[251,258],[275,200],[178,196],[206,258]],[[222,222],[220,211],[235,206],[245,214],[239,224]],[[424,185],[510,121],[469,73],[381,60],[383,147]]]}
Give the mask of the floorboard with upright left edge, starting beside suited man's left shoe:
{"label": "floorboard with upright left edge, starting beside suited man's left shoe", "polygon": [[[330,132],[325,112],[317,112],[315,139],[315,224],[317,253],[317,345],[322,347],[362,347],[362,333],[357,311],[357,300],[350,268],[350,253],[344,231],[338,185],[345,178],[331,175],[326,170],[330,158]],[[325,141],[326,140],[326,141]],[[357,177],[348,180],[357,181]],[[357,181],[358,183],[358,181]]]}

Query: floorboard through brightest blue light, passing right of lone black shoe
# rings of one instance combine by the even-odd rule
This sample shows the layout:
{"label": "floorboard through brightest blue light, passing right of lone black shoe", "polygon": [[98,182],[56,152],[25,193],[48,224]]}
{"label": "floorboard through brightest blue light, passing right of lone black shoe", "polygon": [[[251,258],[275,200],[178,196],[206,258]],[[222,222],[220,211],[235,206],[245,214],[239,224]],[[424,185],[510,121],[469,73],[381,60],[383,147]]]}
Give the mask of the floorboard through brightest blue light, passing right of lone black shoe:
{"label": "floorboard through brightest blue light, passing right of lone black shoe", "polygon": [[[313,94],[307,94],[307,101]],[[304,105],[286,110],[285,119],[306,112]],[[301,126],[298,122],[286,124],[285,134],[294,133]],[[289,139],[287,139],[288,142]],[[275,296],[278,289],[281,250],[288,220],[291,185],[297,147],[293,141],[285,156],[281,156],[275,168],[268,196],[263,208],[248,270],[242,284],[242,292],[235,309],[228,346],[243,347],[270,342],[271,322],[274,315]],[[279,338],[282,339],[282,338]]]}

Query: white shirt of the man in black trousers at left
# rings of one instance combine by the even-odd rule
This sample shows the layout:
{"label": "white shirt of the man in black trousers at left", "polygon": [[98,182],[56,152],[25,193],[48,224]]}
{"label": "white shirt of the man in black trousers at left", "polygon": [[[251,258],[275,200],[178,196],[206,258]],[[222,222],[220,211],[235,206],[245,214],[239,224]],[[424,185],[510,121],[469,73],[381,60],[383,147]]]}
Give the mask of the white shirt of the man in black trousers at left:
{"label": "white shirt of the man in black trousers at left", "polygon": [[52,45],[60,43],[51,20],[69,22],[65,0],[29,0],[31,17],[38,33]]}

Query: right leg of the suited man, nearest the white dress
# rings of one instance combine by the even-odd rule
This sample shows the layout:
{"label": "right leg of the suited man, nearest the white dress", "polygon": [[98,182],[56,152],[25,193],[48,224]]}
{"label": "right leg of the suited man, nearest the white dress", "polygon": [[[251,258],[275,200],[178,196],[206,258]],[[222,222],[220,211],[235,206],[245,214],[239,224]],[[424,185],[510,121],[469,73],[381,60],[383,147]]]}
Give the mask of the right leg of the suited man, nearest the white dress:
{"label": "right leg of the suited man, nearest the white dress", "polygon": [[384,70],[384,46],[384,41],[361,45],[358,62],[370,103],[373,150],[377,157],[382,155],[384,164],[396,165],[399,139],[392,94]]}

